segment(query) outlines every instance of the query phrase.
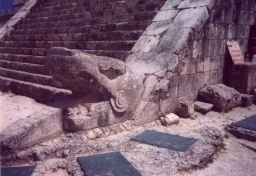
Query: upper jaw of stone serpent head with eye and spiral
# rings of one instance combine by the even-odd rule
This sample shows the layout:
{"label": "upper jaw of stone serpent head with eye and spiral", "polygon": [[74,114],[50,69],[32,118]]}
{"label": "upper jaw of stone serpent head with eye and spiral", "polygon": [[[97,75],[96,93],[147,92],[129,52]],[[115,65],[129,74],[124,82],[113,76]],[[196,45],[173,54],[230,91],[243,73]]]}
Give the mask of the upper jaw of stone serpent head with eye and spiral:
{"label": "upper jaw of stone serpent head with eye and spiral", "polygon": [[125,62],[77,50],[51,48],[45,68],[73,94],[92,94],[97,101],[110,100],[115,112],[129,116],[144,89],[142,76]]}

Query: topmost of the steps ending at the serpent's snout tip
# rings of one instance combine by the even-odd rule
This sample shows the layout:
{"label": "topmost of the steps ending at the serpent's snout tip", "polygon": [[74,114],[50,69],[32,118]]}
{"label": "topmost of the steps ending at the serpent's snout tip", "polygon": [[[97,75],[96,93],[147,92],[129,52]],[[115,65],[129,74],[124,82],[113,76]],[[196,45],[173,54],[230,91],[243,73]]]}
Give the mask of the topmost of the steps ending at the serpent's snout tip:
{"label": "topmost of the steps ending at the serpent's snout tip", "polygon": [[12,55],[31,55],[31,56],[46,56],[47,49],[44,48],[18,48],[18,47],[0,47],[0,56],[2,54]]}

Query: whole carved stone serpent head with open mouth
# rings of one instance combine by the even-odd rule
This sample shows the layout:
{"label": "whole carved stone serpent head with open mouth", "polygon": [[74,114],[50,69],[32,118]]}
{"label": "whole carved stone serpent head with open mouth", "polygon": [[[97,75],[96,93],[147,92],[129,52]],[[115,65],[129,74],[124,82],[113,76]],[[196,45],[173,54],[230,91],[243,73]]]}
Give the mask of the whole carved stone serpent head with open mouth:
{"label": "whole carved stone serpent head with open mouth", "polygon": [[152,108],[140,100],[144,91],[143,76],[121,60],[51,48],[45,68],[73,92],[57,101],[62,104],[64,128],[68,131],[121,123],[127,119],[136,121],[142,110]]}

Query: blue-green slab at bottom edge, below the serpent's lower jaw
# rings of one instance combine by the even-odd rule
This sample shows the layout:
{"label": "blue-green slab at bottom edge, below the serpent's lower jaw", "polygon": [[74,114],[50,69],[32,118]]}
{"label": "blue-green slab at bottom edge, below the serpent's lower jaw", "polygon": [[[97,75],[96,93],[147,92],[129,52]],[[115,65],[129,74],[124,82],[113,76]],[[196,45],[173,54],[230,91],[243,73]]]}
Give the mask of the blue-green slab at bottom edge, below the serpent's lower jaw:
{"label": "blue-green slab at bottom edge, below the serpent's lower jaw", "polygon": [[141,175],[120,152],[77,158],[85,175]]}

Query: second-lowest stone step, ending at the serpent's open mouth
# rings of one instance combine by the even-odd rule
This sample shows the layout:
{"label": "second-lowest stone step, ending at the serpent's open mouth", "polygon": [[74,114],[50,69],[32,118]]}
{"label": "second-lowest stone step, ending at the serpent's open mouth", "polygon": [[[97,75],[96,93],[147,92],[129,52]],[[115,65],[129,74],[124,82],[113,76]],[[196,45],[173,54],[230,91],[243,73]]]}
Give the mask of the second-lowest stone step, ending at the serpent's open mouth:
{"label": "second-lowest stone step, ending at the serpent's open mouth", "polygon": [[31,74],[25,71],[10,70],[8,68],[0,67],[0,76],[17,79],[19,81],[25,81],[25,82],[31,82],[31,83],[36,83],[40,85],[63,88],[63,84],[61,82],[55,81],[54,79],[52,79],[51,76],[48,76],[48,75]]}

